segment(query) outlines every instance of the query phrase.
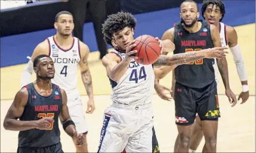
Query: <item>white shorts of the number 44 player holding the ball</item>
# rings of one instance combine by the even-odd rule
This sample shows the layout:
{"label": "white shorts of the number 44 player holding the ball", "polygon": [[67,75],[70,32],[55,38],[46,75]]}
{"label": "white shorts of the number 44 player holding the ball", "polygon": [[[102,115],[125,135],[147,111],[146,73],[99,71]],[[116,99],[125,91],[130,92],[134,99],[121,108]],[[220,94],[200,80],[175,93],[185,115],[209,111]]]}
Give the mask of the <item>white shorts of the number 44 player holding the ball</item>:
{"label": "white shorts of the number 44 player holding the ball", "polygon": [[152,106],[113,103],[104,111],[98,152],[152,152]]}

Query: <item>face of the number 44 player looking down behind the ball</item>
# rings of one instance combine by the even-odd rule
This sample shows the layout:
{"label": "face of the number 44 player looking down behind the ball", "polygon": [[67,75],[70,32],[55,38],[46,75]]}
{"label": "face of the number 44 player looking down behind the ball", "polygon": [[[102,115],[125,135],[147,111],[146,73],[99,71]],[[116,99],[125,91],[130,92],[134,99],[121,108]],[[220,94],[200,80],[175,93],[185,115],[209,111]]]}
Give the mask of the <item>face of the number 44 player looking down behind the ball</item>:
{"label": "face of the number 44 player looking down behind the ball", "polygon": [[125,27],[123,30],[120,30],[113,34],[112,44],[115,49],[125,51],[134,40],[134,30],[130,27]]}

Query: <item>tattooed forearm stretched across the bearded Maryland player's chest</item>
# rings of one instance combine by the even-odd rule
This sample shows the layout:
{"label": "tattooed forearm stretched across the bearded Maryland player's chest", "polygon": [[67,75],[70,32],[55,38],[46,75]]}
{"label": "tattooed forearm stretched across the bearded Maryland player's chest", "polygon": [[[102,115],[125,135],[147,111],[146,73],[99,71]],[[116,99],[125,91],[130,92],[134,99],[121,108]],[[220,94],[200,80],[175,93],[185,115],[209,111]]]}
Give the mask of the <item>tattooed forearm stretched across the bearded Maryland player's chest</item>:
{"label": "tattooed forearm stretched across the bearded Maryland player's chest", "polygon": [[178,53],[171,56],[160,55],[158,60],[156,60],[156,62],[154,63],[154,65],[178,66],[202,58],[205,58],[205,52],[203,52],[203,50],[201,52]]}

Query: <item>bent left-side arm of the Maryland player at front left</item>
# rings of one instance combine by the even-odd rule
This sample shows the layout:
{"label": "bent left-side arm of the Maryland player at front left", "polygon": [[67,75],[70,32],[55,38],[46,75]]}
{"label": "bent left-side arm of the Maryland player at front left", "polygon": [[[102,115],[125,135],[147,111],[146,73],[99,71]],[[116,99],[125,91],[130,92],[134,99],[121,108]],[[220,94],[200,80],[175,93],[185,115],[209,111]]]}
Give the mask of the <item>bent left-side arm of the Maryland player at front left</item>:
{"label": "bent left-side arm of the Maryland player at front left", "polygon": [[[6,130],[30,130],[38,128],[38,122],[36,120],[23,121],[18,120],[23,114],[24,107],[27,104],[29,93],[26,88],[22,88],[16,94],[13,104],[4,119],[4,128]],[[50,122],[48,123],[50,125]]]}

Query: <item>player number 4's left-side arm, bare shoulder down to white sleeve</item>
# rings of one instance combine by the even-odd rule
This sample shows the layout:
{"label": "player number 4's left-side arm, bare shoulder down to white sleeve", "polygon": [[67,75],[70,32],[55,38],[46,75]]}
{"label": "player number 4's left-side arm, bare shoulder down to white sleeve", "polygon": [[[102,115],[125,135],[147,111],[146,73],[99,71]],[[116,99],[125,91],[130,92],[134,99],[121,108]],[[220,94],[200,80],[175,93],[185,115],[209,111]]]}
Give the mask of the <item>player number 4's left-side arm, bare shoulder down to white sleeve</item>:
{"label": "player number 4's left-side arm, bare shoulder down to white sleeve", "polygon": [[47,42],[48,40],[45,40],[42,43],[39,43],[38,46],[36,46],[35,50],[32,53],[31,58],[29,59],[29,62],[27,62],[26,67],[23,69],[20,79],[21,87],[24,87],[24,85],[27,85],[31,82],[31,76],[33,72],[33,60],[36,58],[36,56],[45,54],[49,54],[49,44]]}

